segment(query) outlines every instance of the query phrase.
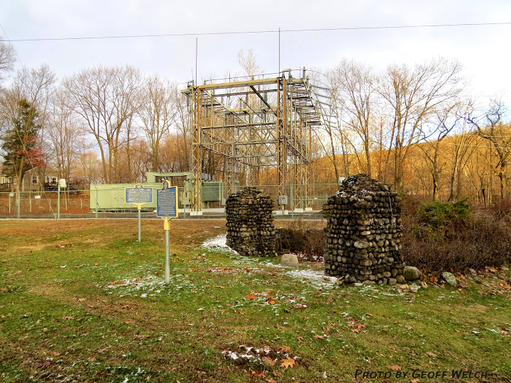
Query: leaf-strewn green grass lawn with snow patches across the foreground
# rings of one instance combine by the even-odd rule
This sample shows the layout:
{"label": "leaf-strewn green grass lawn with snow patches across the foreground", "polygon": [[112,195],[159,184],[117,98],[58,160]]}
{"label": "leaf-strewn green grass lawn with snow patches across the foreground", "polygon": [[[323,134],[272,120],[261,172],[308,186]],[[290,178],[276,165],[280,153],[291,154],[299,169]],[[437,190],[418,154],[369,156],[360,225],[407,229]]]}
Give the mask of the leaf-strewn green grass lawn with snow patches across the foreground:
{"label": "leaf-strewn green grass lawn with snow patches across the foreground", "polygon": [[510,272],[338,287],[320,264],[200,247],[225,221],[175,220],[165,285],[163,221],[142,243],[136,225],[0,222],[1,382],[511,382]]}

